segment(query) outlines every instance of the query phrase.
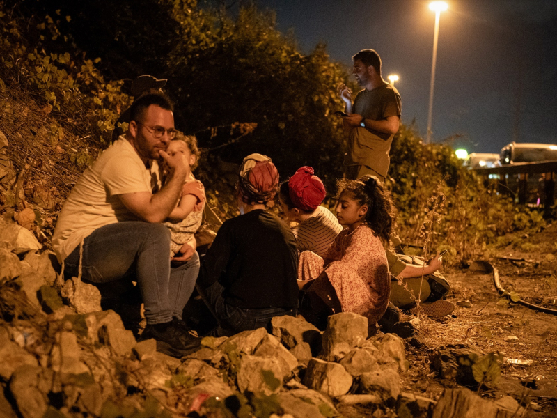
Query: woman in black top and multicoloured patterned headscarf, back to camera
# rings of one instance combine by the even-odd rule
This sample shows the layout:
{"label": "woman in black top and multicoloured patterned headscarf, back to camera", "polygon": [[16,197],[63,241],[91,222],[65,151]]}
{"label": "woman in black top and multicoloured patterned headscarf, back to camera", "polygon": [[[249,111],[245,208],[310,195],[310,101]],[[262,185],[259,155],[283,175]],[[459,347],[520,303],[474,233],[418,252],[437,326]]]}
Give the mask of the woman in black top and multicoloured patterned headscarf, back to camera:
{"label": "woman in black top and multicoloured patterned headscarf, back to camera", "polygon": [[268,327],[274,316],[296,316],[294,235],[265,211],[278,189],[269,157],[244,158],[237,183],[240,216],[228,219],[205,254],[198,291],[217,318],[217,335]]}

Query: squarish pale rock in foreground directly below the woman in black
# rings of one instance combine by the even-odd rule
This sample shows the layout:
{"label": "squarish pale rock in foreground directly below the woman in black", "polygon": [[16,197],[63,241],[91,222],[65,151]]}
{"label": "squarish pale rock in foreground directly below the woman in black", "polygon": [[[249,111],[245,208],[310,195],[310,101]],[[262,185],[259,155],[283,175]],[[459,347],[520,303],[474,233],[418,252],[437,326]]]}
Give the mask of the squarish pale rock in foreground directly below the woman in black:
{"label": "squarish pale rock in foreground directly below the woman in black", "polygon": [[245,355],[240,359],[240,368],[236,376],[241,393],[249,390],[266,395],[278,393],[284,378],[283,364],[279,359],[254,355]]}

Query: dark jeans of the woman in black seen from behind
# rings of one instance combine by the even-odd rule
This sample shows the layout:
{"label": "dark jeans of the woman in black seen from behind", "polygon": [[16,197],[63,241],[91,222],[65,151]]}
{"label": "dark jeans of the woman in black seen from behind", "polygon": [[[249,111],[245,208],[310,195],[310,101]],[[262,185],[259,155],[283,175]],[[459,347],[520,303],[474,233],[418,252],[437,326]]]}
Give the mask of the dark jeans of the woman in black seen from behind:
{"label": "dark jeans of the woman in black seen from behind", "polygon": [[263,309],[247,309],[239,308],[227,304],[223,297],[224,286],[218,281],[206,289],[197,286],[197,290],[217,319],[219,326],[226,334],[236,334],[237,332],[257,330],[265,328],[269,331],[269,325],[274,316],[290,315],[296,316],[298,310],[284,308],[263,308]]}

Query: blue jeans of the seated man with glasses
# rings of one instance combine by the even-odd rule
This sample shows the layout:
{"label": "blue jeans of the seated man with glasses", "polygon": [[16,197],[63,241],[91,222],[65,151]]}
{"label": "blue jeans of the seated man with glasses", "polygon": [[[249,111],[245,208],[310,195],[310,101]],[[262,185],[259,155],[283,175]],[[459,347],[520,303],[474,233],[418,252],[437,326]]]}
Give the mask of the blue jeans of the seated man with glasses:
{"label": "blue jeans of the seated man with glasses", "polygon": [[[77,277],[78,246],[64,261],[65,276]],[[81,279],[104,284],[137,281],[148,324],[182,319],[199,272],[197,252],[178,267],[170,263],[170,231],[162,224],[118,222],[95,229],[84,240]]]}

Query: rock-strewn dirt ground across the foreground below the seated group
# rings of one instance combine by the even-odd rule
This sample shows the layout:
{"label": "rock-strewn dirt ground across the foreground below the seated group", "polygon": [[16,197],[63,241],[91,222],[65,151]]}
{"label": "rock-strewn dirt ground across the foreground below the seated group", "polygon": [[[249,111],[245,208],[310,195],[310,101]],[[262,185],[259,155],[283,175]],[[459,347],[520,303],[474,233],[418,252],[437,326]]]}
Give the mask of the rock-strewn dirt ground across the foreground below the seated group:
{"label": "rock-strewn dirt ground across the foreground below the seated group", "polygon": [[[0,223],[3,416],[555,416],[555,316],[497,295],[484,263],[446,272],[459,306],[444,320],[404,317],[419,330],[407,339],[368,338],[355,314],[324,332],[283,317],[175,359],[136,342],[97,288],[61,281],[32,233]],[[509,296],[554,305],[555,231],[492,260]]]}

